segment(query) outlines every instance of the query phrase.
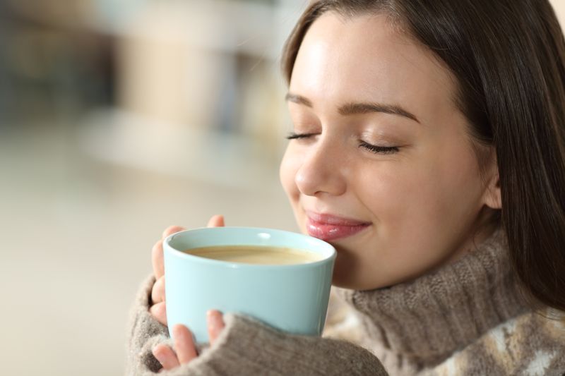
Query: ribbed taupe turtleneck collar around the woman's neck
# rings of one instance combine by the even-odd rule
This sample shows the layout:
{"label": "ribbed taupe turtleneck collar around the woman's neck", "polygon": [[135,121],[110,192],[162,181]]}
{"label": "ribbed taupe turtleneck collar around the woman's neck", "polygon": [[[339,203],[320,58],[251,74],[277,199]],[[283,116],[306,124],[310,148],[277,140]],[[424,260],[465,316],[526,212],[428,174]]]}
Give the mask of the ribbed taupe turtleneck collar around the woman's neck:
{"label": "ribbed taupe turtleneck collar around the woman's neck", "polygon": [[339,289],[362,316],[370,342],[429,366],[526,310],[497,229],[453,264],[384,289]]}

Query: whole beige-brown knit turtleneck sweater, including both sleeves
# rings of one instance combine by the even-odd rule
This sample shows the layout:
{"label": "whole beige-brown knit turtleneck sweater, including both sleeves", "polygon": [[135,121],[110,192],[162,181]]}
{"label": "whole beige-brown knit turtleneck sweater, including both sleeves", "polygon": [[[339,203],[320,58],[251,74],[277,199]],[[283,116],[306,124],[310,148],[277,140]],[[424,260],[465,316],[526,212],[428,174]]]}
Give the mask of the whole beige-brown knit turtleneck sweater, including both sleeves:
{"label": "whole beige-brown knit turtleneck sweater, including both sleeves", "polygon": [[[157,372],[151,348],[169,342],[167,328],[148,313],[153,283],[143,284],[131,311],[128,375]],[[225,321],[212,348],[161,375],[565,374],[565,320],[523,303],[502,231],[414,281],[335,289],[323,338],[284,334],[236,315]]]}

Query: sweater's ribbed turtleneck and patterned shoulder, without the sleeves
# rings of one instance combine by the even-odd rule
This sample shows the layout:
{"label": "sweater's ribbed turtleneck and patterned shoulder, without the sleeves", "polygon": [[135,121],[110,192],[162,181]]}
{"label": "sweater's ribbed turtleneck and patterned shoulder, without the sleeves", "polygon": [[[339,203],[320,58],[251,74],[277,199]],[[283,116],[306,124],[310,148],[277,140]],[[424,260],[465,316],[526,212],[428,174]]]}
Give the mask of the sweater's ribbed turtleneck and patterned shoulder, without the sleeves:
{"label": "sweater's ribbed turtleneck and patterned shoulder, without the sleeves", "polygon": [[346,337],[369,348],[391,375],[565,372],[563,317],[525,304],[501,229],[432,274],[386,289],[335,292],[357,319]]}

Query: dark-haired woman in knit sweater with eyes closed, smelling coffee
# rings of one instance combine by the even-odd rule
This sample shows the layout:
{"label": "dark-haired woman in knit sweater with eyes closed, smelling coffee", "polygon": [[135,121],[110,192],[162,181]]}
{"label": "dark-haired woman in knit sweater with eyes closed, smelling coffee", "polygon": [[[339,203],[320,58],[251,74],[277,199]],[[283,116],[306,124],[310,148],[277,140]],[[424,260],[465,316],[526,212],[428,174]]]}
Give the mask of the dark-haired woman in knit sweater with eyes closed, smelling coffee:
{"label": "dark-haired woman in knit sweater with eyes closed, smelling coffee", "polygon": [[300,229],[338,250],[363,347],[213,311],[210,348],[179,326],[173,351],[158,242],[130,372],[565,372],[565,42],[549,3],[316,1],[283,71],[280,179]]}

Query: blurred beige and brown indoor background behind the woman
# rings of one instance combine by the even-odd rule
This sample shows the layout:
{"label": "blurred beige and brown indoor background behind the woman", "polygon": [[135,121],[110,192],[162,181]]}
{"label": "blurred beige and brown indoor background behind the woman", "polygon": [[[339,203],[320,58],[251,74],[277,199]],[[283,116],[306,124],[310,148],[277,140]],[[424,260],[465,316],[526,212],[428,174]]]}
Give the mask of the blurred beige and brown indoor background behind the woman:
{"label": "blurred beige and brown indoor background behind the woman", "polygon": [[307,2],[0,0],[2,375],[123,374],[170,224],[296,230],[279,60]]}

